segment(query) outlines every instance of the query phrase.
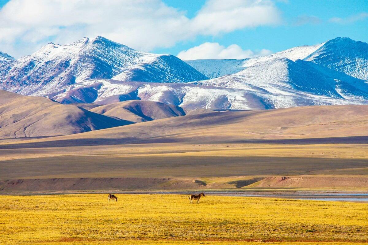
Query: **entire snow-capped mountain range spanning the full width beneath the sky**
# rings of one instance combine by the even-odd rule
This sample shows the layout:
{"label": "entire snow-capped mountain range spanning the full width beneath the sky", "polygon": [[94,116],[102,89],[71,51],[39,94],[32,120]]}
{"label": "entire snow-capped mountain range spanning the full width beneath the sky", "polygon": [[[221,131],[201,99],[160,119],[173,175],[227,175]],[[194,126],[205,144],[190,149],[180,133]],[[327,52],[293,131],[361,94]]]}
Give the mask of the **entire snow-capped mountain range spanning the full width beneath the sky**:
{"label": "entire snow-capped mountain range spanning the full width beneath the sky", "polygon": [[66,104],[140,99],[187,109],[368,104],[367,52],[367,43],[336,38],[257,58],[185,63],[84,38],[18,60],[2,55],[0,89]]}

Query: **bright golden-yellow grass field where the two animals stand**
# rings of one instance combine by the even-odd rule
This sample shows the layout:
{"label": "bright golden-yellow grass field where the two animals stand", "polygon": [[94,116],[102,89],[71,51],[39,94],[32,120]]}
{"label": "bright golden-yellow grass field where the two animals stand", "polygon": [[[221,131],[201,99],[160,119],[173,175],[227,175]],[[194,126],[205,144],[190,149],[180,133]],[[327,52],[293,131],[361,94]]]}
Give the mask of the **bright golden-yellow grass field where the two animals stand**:
{"label": "bright golden-yellow grass field where the two animals stand", "polygon": [[0,244],[357,244],[368,204],[107,194],[0,196]]}

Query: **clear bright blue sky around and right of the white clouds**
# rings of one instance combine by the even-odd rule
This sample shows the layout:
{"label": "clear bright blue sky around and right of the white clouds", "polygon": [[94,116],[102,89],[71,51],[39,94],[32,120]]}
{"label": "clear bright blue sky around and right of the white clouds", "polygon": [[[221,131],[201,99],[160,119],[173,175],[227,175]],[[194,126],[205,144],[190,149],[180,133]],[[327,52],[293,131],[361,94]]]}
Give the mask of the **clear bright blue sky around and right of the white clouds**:
{"label": "clear bright blue sky around and right of the white clouds", "polygon": [[[164,0],[169,6],[187,11],[193,16],[205,1]],[[180,50],[209,42],[218,42],[228,46],[238,44],[243,49],[257,50],[266,48],[273,52],[282,51],[299,45],[313,45],[335,37],[350,37],[351,39],[368,42],[368,18],[350,23],[333,23],[334,17],[349,18],[362,12],[368,13],[368,0],[289,0],[279,1],[276,6],[281,11],[284,23],[278,26],[261,26],[245,28],[219,36],[201,36],[195,41],[188,41],[176,47],[157,49],[157,52],[177,54]],[[298,22],[298,18],[315,16],[321,21]],[[298,24],[298,25],[297,25]]]}

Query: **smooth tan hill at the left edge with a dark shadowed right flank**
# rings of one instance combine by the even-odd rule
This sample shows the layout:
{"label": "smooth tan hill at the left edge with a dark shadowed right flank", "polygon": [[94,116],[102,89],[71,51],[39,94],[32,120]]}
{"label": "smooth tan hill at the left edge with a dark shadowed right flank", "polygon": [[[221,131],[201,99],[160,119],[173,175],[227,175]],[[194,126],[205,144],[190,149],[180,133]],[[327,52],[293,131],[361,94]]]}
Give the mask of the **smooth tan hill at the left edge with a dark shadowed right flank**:
{"label": "smooth tan hill at the left edge with a dark shadowed right flank", "polygon": [[0,90],[0,138],[68,135],[132,123],[47,98]]}

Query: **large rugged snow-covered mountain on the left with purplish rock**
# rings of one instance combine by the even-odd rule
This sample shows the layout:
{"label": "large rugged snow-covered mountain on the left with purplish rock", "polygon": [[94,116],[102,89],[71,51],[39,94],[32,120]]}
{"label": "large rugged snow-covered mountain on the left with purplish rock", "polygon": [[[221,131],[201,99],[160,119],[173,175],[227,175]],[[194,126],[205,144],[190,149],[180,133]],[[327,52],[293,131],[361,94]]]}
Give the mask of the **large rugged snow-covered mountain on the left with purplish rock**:
{"label": "large rugged snow-covered mountain on the left with purplish rock", "polygon": [[119,73],[119,79],[128,81],[181,83],[207,78],[175,56],[136,51],[98,36],[72,44],[49,43],[12,62],[6,74],[0,72],[5,75],[0,77],[0,89],[45,95],[70,84]]}

